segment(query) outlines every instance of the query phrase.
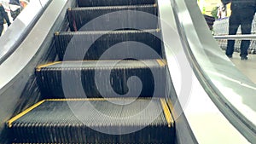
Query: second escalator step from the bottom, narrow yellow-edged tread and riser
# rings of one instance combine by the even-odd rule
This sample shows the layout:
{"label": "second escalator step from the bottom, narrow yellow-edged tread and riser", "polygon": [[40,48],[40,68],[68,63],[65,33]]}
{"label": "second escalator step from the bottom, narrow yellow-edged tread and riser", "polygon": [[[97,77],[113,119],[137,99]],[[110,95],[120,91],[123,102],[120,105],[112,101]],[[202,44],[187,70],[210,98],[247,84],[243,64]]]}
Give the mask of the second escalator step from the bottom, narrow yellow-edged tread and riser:
{"label": "second escalator step from the bottom, narrow yellow-edged tread and riser", "polygon": [[163,60],[59,61],[38,66],[36,75],[47,98],[165,97],[167,93]]}

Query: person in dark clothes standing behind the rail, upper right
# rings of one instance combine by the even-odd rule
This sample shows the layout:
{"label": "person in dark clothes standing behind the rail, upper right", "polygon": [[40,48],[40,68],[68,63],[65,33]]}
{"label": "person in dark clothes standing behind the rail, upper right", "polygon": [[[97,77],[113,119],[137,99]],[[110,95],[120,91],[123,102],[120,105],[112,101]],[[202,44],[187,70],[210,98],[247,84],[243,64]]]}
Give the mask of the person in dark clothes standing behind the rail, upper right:
{"label": "person in dark clothes standing behind the rail, upper right", "polygon": [[[229,23],[229,35],[236,35],[237,29],[241,26],[241,34],[251,34],[252,22],[256,9],[256,0],[221,0],[226,5],[231,3],[231,15]],[[226,55],[232,57],[235,40],[228,40]],[[241,41],[241,60],[247,60],[247,50],[250,40]]]}

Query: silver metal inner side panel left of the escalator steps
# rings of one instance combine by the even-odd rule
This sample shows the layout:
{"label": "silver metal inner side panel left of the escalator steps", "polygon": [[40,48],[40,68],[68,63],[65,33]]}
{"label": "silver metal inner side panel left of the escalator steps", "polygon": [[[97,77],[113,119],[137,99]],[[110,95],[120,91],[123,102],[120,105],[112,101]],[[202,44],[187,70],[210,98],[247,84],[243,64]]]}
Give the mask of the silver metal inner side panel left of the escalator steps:
{"label": "silver metal inner side panel left of the escalator steps", "polygon": [[[5,141],[5,122],[12,117],[20,95],[33,76],[38,62],[46,55],[53,33],[64,20],[66,9],[72,1],[58,0],[49,3],[32,31],[0,66],[0,143]],[[74,3],[74,2],[73,2]],[[69,5],[68,5],[69,4]]]}

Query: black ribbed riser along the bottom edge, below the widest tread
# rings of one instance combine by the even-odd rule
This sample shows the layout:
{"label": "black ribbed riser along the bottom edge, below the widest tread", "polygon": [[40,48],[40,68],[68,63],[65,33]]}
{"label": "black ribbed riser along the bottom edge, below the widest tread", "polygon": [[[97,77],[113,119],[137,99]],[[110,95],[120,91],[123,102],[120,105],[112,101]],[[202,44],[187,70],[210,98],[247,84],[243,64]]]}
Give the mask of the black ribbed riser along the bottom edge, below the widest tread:
{"label": "black ribbed riser along the bottom edge, below the widest tread", "polygon": [[[15,143],[173,143],[173,129],[164,126],[147,127],[136,133],[128,135],[108,135],[96,132],[86,127],[76,127],[70,125],[68,127],[55,127],[55,125],[48,125],[46,127],[33,127],[24,125],[24,127],[13,128],[20,132],[14,132]],[[19,130],[18,130],[19,129]],[[22,129],[22,130],[21,130]],[[122,128],[133,129],[133,128]],[[111,130],[111,128],[110,128]],[[20,133],[20,134],[18,134]],[[21,134],[26,135],[21,135]],[[91,135],[93,134],[93,135]]]}

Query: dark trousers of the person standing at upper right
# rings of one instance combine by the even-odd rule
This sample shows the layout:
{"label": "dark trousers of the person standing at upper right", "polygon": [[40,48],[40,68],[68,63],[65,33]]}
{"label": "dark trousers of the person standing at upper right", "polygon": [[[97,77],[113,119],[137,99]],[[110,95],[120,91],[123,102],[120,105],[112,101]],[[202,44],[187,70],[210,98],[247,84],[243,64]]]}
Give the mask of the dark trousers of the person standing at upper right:
{"label": "dark trousers of the person standing at upper right", "polygon": [[[252,21],[254,16],[254,9],[234,9],[230,15],[230,24],[229,24],[229,35],[236,35],[237,29],[241,26],[241,34],[251,34],[252,30]],[[226,55],[232,55],[234,52],[235,40],[229,40],[228,46],[226,49]],[[247,56],[247,50],[250,46],[249,40],[241,41],[241,54],[240,56]]]}

